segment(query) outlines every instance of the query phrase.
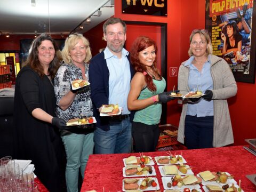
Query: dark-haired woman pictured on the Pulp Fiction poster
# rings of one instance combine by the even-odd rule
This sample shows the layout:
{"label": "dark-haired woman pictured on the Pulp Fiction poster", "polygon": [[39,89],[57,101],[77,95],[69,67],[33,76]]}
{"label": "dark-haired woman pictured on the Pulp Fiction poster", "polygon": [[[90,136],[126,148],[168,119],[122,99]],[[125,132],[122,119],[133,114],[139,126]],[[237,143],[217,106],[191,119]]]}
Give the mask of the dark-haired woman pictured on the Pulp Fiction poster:
{"label": "dark-haired woman pictured on the Pulp Fiction poster", "polygon": [[221,39],[223,41],[222,55],[233,51],[236,60],[242,60],[242,35],[239,34],[236,21],[229,21],[225,26],[225,31],[226,34],[221,34]]}

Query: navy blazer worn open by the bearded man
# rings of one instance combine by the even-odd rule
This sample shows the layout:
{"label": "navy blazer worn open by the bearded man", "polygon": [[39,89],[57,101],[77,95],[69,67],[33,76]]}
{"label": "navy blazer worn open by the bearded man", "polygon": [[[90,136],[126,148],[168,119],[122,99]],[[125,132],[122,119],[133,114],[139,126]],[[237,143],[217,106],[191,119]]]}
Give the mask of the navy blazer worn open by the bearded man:
{"label": "navy blazer worn open by the bearded man", "polygon": [[[127,56],[130,62],[131,79],[134,76],[134,69],[131,65],[130,55]],[[95,55],[89,65],[89,82],[91,86],[91,98],[93,103],[93,116],[96,118],[96,126],[102,130],[109,130],[109,117],[101,117],[99,108],[102,105],[109,104],[109,70],[107,67],[107,61],[104,59],[104,52]],[[134,117],[134,111],[131,111],[130,121]]]}

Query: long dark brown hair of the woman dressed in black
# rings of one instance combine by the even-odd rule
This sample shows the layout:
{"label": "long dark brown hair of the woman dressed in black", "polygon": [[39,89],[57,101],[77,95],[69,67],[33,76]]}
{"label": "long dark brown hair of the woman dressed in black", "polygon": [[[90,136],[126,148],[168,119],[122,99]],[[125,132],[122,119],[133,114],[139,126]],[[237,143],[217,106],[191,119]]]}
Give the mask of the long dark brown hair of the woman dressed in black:
{"label": "long dark brown hair of the woman dressed in black", "polygon": [[30,52],[29,52],[29,55],[28,55],[28,59],[25,62],[25,65],[29,66],[31,69],[35,70],[36,73],[40,77],[43,77],[45,75],[44,74],[44,68],[40,64],[39,59],[38,59],[38,47],[45,40],[51,41],[53,46],[54,46],[54,50],[55,50],[54,58],[53,58],[52,62],[50,63],[49,69],[48,69],[48,72],[49,72],[51,78],[54,78],[55,74],[57,73],[57,70],[60,67],[60,60],[59,60],[59,57],[57,55],[57,51],[59,50],[59,47],[57,46],[54,39],[50,35],[41,34],[41,35],[39,35],[38,37],[35,38],[35,40],[31,44],[31,47],[30,47],[30,50],[29,50]]}

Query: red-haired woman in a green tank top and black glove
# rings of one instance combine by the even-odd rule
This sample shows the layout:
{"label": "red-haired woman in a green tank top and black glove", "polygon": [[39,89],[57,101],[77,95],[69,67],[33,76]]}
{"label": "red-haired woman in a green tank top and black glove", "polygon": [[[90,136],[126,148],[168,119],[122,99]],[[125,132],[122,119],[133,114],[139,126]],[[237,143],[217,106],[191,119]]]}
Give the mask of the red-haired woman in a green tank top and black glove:
{"label": "red-haired woman in a green tank top and black glove", "polygon": [[159,137],[162,102],[174,98],[163,92],[166,82],[156,68],[156,43],[149,37],[140,36],[133,42],[130,53],[136,73],[131,81],[127,106],[129,110],[137,110],[132,123],[135,151],[154,151]]}

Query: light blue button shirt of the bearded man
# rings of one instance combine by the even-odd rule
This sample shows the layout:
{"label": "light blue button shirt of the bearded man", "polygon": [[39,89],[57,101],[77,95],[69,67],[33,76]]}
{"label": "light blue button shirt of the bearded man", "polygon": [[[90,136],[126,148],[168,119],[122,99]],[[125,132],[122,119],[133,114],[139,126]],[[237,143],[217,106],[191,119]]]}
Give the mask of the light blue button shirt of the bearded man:
{"label": "light blue button shirt of the bearded man", "polygon": [[130,63],[127,59],[129,52],[123,48],[122,58],[119,59],[106,47],[104,54],[109,70],[108,102],[110,104],[118,104],[119,107],[122,107],[122,114],[130,114],[127,108],[127,98],[131,82]]}

